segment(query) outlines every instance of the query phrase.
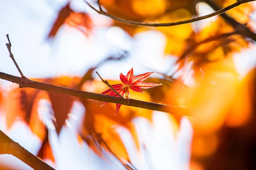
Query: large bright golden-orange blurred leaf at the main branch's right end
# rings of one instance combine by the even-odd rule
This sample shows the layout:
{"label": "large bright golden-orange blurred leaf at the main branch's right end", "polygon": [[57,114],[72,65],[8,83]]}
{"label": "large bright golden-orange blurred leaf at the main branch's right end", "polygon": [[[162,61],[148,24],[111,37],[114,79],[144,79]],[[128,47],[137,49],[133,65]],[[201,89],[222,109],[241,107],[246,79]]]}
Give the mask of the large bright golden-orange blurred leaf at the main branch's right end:
{"label": "large bright golden-orange blurred leaf at the main branch's right end", "polygon": [[227,118],[239,84],[233,59],[228,57],[197,66],[193,76],[187,79],[194,83],[181,86],[182,79],[174,82],[166,95],[168,104],[191,108],[196,130],[204,133],[218,130]]}

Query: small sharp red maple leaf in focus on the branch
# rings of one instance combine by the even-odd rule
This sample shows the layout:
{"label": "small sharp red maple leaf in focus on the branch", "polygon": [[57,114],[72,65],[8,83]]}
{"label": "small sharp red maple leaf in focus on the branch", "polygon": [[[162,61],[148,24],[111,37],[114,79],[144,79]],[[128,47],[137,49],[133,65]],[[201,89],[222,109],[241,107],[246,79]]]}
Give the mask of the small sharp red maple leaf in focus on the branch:
{"label": "small sharp red maple leaf in focus on the branch", "polygon": [[[154,72],[148,72],[148,73],[140,74],[138,76],[134,76],[133,68],[131,68],[131,70],[128,71],[126,76],[124,76],[122,73],[120,73],[120,80],[122,81],[122,83],[124,83],[124,85],[123,84],[116,84],[116,85],[111,85],[111,86],[117,91],[117,93],[121,94],[123,97],[130,98],[129,88],[133,91],[144,93],[141,90],[141,88],[152,88],[152,87],[155,87],[155,86],[158,86],[158,85],[162,85],[162,84],[156,84],[156,83],[152,83],[152,82],[143,82],[152,73],[154,73]],[[119,97],[111,89],[108,89],[108,90],[102,92],[102,94]],[[103,105],[105,105],[106,103],[107,102],[104,102],[101,105],[101,107]],[[121,107],[121,104],[116,104],[116,113],[119,111],[120,107]],[[116,113],[115,113],[115,115],[116,115]]]}

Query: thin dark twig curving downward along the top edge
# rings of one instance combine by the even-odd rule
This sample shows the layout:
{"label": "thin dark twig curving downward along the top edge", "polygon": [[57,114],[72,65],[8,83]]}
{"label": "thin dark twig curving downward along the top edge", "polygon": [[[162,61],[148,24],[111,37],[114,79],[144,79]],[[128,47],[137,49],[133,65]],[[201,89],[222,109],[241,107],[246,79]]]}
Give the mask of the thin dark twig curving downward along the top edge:
{"label": "thin dark twig curving downward along the top edge", "polygon": [[193,22],[196,22],[196,21],[204,20],[204,19],[207,19],[209,17],[213,17],[215,15],[222,14],[222,13],[224,13],[224,12],[226,12],[226,11],[232,9],[232,8],[235,8],[235,7],[239,6],[239,5],[241,5],[242,3],[248,3],[248,2],[252,2],[252,1],[255,1],[255,0],[237,0],[236,3],[233,3],[230,6],[222,8],[222,9],[220,9],[218,11],[215,11],[215,12],[213,12],[211,14],[208,14],[208,15],[205,15],[205,16],[201,16],[201,17],[195,17],[195,18],[192,18],[192,19],[189,19],[189,20],[173,22],[173,23],[142,23],[142,22],[137,22],[137,21],[126,20],[124,18],[120,18],[120,17],[114,16],[112,14],[108,14],[107,12],[103,11],[102,8],[101,8],[101,5],[99,3],[99,0],[98,0],[99,10],[94,8],[87,1],[85,1],[85,2],[87,3],[88,6],[90,6],[90,8],[92,8],[98,14],[105,15],[105,16],[110,17],[113,20],[119,21],[121,23],[125,23],[127,25],[133,25],[133,26],[160,27],[160,26],[177,26],[177,25],[181,25],[181,24],[193,23]]}

